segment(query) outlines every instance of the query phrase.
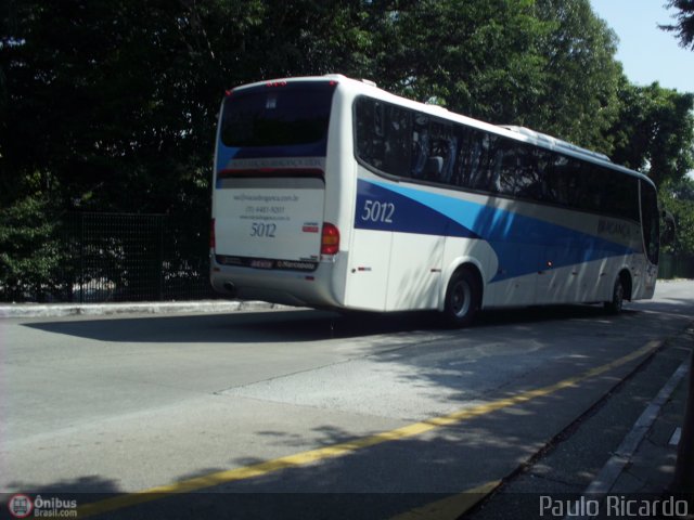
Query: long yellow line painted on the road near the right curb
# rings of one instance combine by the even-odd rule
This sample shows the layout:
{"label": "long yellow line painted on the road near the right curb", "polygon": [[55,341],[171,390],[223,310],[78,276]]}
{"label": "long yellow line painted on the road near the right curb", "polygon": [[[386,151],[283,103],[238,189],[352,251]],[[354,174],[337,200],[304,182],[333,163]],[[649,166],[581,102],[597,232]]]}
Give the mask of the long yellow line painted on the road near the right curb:
{"label": "long yellow line painted on the road near the right curb", "polygon": [[100,515],[128,506],[134,506],[137,504],[156,500],[158,498],[162,498],[163,495],[191,493],[194,491],[214,487],[216,485],[229,482],[252,479],[255,477],[262,477],[280,471],[282,469],[295,468],[298,466],[317,463],[319,460],[340,457],[343,455],[347,455],[365,447],[375,446],[377,444],[383,444],[385,442],[421,435],[438,428],[452,426],[464,420],[490,414],[491,412],[496,412],[498,410],[507,408],[516,404],[526,403],[534,399],[550,395],[551,393],[565,388],[574,387],[586,379],[596,377],[613,368],[637,360],[642,355],[648,354],[652,351],[656,350],[660,344],[660,341],[650,341],[641,349],[638,349],[632,353],[625,355],[624,358],[619,358],[604,365],[591,368],[590,370],[583,372],[582,374],[579,374],[577,376],[563,379],[549,387],[528,390],[510,398],[499,399],[486,404],[480,404],[470,408],[461,410],[459,412],[453,412],[449,415],[434,417],[421,422],[414,422],[401,428],[396,428],[395,430],[384,431],[382,433],[376,433],[374,435],[364,437],[348,442],[342,442],[339,444],[333,444],[332,446],[319,447],[317,450],[309,450],[307,452],[287,455],[285,457],[275,458],[273,460],[268,460],[260,464],[243,466],[224,471],[217,471],[202,477],[182,480],[180,482],[174,482],[171,484],[150,487],[149,490],[142,490],[134,493],[118,495],[113,498],[106,498],[101,502],[86,504],[78,508],[79,518],[86,518],[89,516]]}

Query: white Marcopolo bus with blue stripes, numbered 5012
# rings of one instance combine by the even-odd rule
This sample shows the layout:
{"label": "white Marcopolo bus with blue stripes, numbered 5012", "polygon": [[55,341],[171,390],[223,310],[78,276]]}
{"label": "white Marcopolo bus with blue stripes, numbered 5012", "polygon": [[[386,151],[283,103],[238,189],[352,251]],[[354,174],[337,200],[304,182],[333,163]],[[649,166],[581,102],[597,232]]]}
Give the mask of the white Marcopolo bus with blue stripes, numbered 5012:
{"label": "white Marcopolo bus with blue stripes, numbered 5012", "polygon": [[229,91],[211,284],[229,297],[376,312],[651,298],[656,190],[606,156],[344,76]]}

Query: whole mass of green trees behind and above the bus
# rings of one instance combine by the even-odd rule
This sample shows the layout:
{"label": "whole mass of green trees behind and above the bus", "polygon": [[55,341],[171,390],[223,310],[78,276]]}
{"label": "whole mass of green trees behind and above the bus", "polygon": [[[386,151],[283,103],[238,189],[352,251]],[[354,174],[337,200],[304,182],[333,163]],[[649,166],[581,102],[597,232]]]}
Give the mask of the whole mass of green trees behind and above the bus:
{"label": "whole mass of green trees behind and above the bus", "polygon": [[[615,52],[589,0],[4,2],[3,233],[24,211],[50,235],[38,223],[49,200],[55,211],[168,213],[177,247],[204,256],[223,91],[285,76],[370,78],[676,180],[693,167],[692,98],[629,84]],[[24,269],[37,283],[54,265],[38,260],[51,246],[20,242],[36,255],[2,243],[14,266],[1,276]]]}

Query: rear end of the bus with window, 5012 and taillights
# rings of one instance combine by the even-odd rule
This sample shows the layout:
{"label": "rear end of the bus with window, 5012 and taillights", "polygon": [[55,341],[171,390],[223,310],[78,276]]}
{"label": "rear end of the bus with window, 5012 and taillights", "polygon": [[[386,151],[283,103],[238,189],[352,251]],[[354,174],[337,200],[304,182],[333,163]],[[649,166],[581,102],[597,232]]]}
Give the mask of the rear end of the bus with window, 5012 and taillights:
{"label": "rear end of the bus with window, 5012 and taillights", "polygon": [[222,102],[211,220],[213,287],[230,298],[335,307],[339,231],[325,221],[337,81],[240,87]]}

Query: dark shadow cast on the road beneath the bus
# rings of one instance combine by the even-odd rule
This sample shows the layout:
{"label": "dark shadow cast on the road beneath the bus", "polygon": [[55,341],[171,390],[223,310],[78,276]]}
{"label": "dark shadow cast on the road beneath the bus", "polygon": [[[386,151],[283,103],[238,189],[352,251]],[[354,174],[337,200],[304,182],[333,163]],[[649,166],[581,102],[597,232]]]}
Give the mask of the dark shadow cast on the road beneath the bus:
{"label": "dark shadow cast on the road beneath the bus", "polygon": [[[627,310],[625,315],[638,314]],[[474,335],[476,330],[509,324],[540,325],[561,320],[614,320],[602,308],[560,306],[486,311],[467,329],[451,330],[435,312],[393,314],[314,310],[277,310],[232,314],[154,315],[69,318],[33,322],[25,326],[51,334],[106,342],[143,343],[277,343],[349,339],[416,330]]]}

